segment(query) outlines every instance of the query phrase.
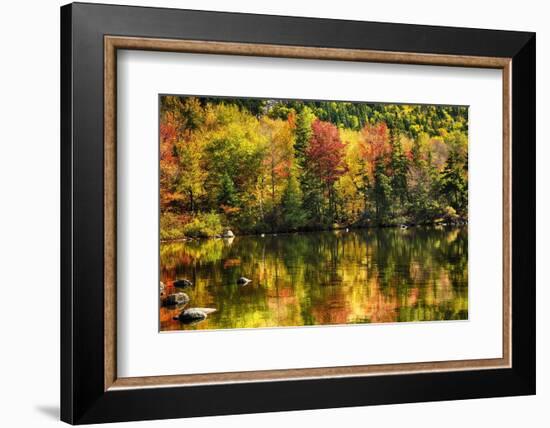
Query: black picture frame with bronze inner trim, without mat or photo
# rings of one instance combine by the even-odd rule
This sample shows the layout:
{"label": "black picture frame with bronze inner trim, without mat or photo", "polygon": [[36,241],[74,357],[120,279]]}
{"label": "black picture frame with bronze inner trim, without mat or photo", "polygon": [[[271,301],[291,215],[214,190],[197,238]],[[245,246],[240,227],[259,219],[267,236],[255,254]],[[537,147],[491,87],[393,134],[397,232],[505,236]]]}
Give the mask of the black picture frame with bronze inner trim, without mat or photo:
{"label": "black picture frame with bronze inner trim, without mat or photo", "polygon": [[[117,49],[501,69],[503,357],[118,378]],[[82,424],[535,393],[533,33],[71,4],[61,8],[61,135],[62,420]]]}

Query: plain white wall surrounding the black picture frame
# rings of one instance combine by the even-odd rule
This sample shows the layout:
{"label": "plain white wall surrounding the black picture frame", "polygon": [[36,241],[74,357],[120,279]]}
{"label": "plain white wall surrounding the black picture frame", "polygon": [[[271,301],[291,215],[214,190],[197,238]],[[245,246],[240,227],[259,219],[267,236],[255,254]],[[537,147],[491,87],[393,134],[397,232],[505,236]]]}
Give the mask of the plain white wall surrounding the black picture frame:
{"label": "plain white wall surrounding the black picture frame", "polygon": [[[550,28],[535,0],[360,2],[317,0],[147,0],[127,4],[322,18],[484,27],[537,32],[537,340],[535,397],[420,403],[186,420],[187,427],[545,426],[550,405]],[[103,1],[103,3],[116,3]],[[4,2],[0,12],[0,421],[7,427],[59,424],[59,6]],[[181,426],[181,420],[141,426]],[[126,426],[137,426],[127,424]]]}

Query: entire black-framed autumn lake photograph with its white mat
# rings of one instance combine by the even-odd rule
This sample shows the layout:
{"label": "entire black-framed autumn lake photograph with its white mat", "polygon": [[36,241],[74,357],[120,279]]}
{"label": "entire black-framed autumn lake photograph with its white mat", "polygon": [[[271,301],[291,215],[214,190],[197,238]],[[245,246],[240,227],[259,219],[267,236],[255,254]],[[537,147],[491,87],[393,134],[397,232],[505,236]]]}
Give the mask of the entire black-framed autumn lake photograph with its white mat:
{"label": "entire black-framed autumn lake photograph with its white mat", "polygon": [[535,393],[535,35],[61,8],[61,418]]}

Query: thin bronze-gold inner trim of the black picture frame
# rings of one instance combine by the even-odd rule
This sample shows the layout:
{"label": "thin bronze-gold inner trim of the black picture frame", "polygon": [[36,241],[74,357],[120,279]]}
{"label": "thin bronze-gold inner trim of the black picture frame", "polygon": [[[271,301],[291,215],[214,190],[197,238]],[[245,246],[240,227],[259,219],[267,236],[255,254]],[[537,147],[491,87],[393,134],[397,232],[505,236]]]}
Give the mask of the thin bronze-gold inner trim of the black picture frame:
{"label": "thin bronze-gold inner trim of the black picture frame", "polygon": [[[378,364],[304,369],[204,373],[170,376],[117,376],[116,357],[116,85],[117,50],[169,51],[213,55],[241,55],[393,64],[440,65],[502,70],[503,94],[503,349],[502,358]],[[220,383],[282,381],[311,378],[359,377],[419,372],[483,370],[511,367],[511,58],[385,52],[250,43],[104,37],[104,389],[193,386]]]}

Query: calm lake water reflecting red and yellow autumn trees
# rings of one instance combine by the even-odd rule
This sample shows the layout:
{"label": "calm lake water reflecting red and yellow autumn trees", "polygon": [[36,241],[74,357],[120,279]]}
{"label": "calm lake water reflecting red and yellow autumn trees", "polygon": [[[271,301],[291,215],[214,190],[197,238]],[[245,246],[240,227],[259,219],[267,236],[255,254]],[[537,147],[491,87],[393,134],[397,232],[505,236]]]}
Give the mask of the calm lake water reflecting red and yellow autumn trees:
{"label": "calm lake water reflecting red and yellow autumn trees", "polygon": [[[252,282],[237,285],[241,276]],[[192,287],[194,325],[161,308],[161,330],[468,318],[467,228],[363,229],[161,244],[161,281]]]}

